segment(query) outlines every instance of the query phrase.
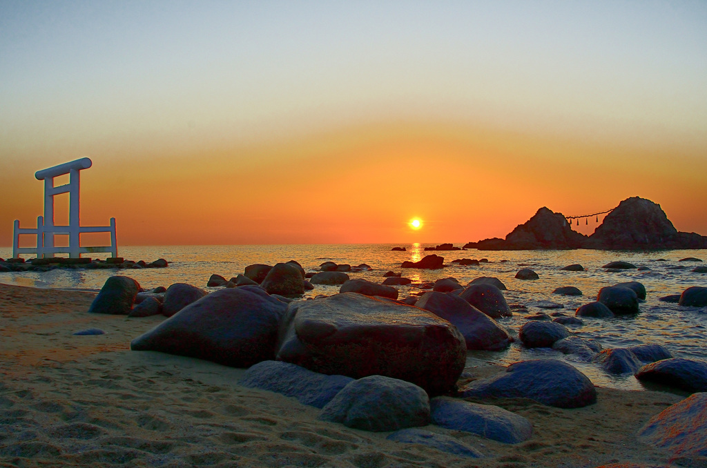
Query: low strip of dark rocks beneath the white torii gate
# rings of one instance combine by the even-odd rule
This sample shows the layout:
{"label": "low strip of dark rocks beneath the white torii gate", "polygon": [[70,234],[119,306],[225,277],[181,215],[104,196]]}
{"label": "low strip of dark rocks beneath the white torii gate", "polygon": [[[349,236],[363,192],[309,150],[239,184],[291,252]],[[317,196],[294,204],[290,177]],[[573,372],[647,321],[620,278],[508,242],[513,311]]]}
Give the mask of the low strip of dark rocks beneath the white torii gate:
{"label": "low strip of dark rocks beneath the white torii gate", "polygon": [[144,260],[134,262],[123,257],[108,257],[105,260],[81,258],[0,258],[0,272],[7,271],[49,271],[57,268],[64,269],[141,269],[141,268],[166,268],[169,263],[165,259],[157,259],[147,263]]}

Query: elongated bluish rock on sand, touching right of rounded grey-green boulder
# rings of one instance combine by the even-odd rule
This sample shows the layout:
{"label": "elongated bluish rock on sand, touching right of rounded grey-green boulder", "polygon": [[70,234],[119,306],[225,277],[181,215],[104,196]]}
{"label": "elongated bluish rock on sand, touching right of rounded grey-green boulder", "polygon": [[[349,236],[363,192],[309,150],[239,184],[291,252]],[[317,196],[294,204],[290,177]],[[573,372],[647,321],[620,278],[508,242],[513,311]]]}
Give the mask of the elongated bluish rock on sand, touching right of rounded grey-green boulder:
{"label": "elongated bluish rock on sand, touching right of rounded grey-green boulder", "polygon": [[436,397],[430,400],[430,411],[432,423],[437,426],[501,443],[525,442],[532,435],[530,421],[498,406]]}

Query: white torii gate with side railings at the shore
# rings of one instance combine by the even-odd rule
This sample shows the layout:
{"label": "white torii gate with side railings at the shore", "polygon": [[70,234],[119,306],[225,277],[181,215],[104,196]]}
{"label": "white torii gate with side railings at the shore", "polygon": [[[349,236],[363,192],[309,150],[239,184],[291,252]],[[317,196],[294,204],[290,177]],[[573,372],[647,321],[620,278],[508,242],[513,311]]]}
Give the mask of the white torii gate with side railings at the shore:
{"label": "white torii gate with side railings at the shore", "polygon": [[[69,163],[55,165],[53,168],[35,172],[37,180],[45,181],[44,216],[37,216],[37,228],[20,228],[20,221],[15,220],[12,256],[20,254],[37,254],[37,258],[54,257],[54,254],[69,254],[70,258],[81,257],[81,254],[93,252],[110,252],[112,257],[118,256],[115,240],[115,218],[110,218],[110,226],[81,226],[78,211],[78,191],[80,171],[90,168],[93,163],[89,158],[81,158]],[[69,183],[54,187],[54,177],[69,174]],[[54,225],[54,196],[69,193],[69,225]],[[107,247],[81,247],[81,233],[110,233],[110,245]],[[20,235],[37,236],[37,247],[20,247]],[[54,247],[54,235],[68,234],[69,247]]]}

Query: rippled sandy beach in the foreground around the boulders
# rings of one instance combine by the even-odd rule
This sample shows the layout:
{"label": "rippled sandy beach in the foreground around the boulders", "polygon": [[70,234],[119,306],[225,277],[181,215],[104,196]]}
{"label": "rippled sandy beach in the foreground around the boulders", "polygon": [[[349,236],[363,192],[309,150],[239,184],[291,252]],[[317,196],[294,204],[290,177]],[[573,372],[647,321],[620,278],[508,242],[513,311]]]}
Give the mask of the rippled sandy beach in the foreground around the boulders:
{"label": "rippled sandy beach in the foreground around the boulders", "polygon": [[[597,404],[495,402],[530,419],[517,445],[426,426],[474,447],[470,459],[317,420],[296,399],[238,385],[243,369],[129,350],[163,317],[88,314],[92,293],[0,285],[1,466],[597,467],[668,466],[636,440],[682,399],[597,388]],[[100,328],[103,335],[75,336]],[[469,368],[474,376],[502,368]]]}

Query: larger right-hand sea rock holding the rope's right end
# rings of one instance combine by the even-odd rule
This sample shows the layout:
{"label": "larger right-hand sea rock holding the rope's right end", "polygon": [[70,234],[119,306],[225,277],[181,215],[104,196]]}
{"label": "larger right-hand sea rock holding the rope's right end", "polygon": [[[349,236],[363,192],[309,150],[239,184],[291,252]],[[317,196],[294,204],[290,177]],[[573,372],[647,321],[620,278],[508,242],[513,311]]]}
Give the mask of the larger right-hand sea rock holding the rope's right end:
{"label": "larger right-hand sea rock holding the rope's right end", "polygon": [[621,201],[585,243],[586,248],[655,250],[703,248],[705,238],[679,233],[653,201],[631,197]]}

